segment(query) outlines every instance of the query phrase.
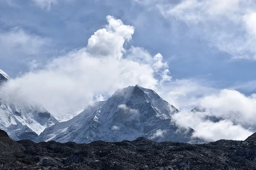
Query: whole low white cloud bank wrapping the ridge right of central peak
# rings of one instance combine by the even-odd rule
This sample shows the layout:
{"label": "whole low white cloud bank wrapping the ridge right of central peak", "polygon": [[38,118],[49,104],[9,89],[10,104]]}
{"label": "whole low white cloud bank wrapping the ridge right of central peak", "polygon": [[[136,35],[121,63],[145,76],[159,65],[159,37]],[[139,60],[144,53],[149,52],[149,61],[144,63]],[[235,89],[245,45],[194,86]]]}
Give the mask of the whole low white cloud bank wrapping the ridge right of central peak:
{"label": "whole low white cloud bank wrapping the ridge right of central peak", "polygon": [[[172,116],[172,121],[178,126],[195,129],[194,137],[208,142],[219,139],[244,140],[256,131],[256,94],[245,96],[236,90],[223,89],[204,95],[197,102],[207,110],[182,110]],[[217,120],[206,119],[207,116],[214,116]]]}

